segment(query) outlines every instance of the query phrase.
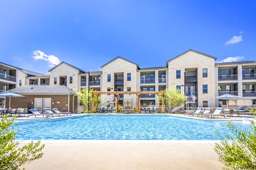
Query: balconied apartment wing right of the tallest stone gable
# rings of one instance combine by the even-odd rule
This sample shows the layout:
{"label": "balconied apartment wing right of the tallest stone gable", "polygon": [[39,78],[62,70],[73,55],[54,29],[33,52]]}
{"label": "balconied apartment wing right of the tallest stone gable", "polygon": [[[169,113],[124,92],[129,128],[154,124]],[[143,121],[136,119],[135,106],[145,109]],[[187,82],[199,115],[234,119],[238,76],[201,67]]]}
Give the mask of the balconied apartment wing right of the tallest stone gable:
{"label": "balconied apartment wing right of the tallest stone gable", "polygon": [[[252,99],[256,105],[256,61],[215,63],[215,82],[218,87],[215,96],[232,94],[239,99]],[[226,99],[216,100],[217,105],[227,105]]]}

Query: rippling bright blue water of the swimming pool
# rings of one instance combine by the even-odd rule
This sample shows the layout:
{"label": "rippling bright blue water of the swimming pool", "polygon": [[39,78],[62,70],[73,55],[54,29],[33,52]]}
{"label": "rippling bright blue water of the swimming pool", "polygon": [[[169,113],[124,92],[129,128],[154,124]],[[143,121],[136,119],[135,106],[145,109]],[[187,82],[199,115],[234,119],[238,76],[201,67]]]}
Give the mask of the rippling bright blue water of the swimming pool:
{"label": "rippling bright blue water of the swimming pool", "polygon": [[[241,121],[233,123],[249,128]],[[230,133],[226,124],[167,115],[87,115],[18,122],[15,139],[218,140],[215,129]]]}

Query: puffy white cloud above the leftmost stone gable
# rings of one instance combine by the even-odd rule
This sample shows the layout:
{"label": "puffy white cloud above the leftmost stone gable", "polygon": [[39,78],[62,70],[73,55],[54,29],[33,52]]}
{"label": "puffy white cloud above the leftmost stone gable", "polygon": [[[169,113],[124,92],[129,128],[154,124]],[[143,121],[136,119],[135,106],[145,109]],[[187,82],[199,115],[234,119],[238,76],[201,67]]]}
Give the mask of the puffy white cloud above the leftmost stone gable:
{"label": "puffy white cloud above the leftmost stone gable", "polygon": [[55,65],[57,65],[61,62],[60,59],[58,59],[58,57],[55,57],[54,55],[44,54],[44,52],[42,52],[40,50],[33,51],[33,54],[35,55],[35,56],[33,56],[33,58],[35,60],[43,59],[43,60],[47,61],[49,63],[49,65],[48,65],[49,67],[54,67]]}

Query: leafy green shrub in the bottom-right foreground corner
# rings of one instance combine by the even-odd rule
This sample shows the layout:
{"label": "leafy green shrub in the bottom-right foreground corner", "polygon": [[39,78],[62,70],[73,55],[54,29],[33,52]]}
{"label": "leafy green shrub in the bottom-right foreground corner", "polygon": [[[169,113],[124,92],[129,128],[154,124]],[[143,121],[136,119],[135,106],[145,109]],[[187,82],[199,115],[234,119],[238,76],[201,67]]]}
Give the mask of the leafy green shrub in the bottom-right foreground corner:
{"label": "leafy green shrub in the bottom-right foreground corner", "polygon": [[220,143],[215,143],[215,152],[226,170],[256,170],[256,125],[251,122],[250,130],[238,128],[228,121],[227,126],[235,137],[228,134],[221,136]]}

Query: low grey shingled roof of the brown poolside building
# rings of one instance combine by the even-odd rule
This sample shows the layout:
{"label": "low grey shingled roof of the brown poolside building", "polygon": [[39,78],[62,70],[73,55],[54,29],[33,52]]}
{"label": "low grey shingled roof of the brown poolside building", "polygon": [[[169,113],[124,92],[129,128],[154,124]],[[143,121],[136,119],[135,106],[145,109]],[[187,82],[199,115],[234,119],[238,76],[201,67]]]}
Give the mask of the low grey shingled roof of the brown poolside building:
{"label": "low grey shingled roof of the brown poolside building", "polygon": [[64,85],[24,85],[5,91],[5,93],[8,92],[17,94],[76,94],[75,91]]}

